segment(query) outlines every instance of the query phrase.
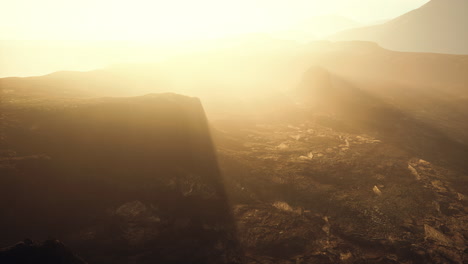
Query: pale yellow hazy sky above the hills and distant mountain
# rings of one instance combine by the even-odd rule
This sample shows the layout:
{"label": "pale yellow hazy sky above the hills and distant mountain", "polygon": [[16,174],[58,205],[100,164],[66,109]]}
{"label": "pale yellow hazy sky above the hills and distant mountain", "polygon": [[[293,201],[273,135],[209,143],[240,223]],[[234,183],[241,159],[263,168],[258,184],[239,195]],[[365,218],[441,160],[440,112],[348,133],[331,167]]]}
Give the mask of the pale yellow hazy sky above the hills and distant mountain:
{"label": "pale yellow hazy sky above the hills and distant mountain", "polygon": [[3,0],[0,39],[193,39],[284,30],[319,15],[393,18],[428,0]]}

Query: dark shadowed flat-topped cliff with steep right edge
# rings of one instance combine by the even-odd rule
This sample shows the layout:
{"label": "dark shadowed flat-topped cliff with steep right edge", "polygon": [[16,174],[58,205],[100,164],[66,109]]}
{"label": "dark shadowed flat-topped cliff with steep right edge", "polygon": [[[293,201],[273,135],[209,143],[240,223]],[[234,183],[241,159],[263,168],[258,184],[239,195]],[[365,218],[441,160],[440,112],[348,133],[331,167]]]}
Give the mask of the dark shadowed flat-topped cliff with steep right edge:
{"label": "dark shadowed flat-topped cliff with steep right edge", "polygon": [[55,236],[96,263],[234,258],[198,99],[150,94],[7,110],[4,144],[15,154],[2,167],[2,243]]}

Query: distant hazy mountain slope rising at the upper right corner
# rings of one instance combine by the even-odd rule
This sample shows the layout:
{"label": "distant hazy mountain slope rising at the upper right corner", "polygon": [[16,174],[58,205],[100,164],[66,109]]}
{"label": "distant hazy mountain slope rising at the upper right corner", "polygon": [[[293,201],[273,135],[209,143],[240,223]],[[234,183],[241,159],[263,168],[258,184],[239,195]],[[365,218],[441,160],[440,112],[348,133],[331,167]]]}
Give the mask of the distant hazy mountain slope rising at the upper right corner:
{"label": "distant hazy mountain slope rising at the upper right corner", "polygon": [[381,25],[350,29],[330,40],[373,41],[398,51],[468,54],[468,2],[431,0]]}

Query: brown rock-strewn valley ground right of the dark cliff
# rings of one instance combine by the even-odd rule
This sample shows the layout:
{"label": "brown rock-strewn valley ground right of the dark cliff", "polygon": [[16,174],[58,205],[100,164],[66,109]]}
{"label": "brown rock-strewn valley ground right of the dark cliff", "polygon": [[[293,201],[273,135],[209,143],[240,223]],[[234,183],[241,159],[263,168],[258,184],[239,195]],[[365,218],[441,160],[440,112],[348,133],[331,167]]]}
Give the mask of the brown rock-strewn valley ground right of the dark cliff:
{"label": "brown rock-strewn valley ground right of the dark cliff", "polygon": [[213,126],[247,263],[468,262],[463,173],[314,121]]}

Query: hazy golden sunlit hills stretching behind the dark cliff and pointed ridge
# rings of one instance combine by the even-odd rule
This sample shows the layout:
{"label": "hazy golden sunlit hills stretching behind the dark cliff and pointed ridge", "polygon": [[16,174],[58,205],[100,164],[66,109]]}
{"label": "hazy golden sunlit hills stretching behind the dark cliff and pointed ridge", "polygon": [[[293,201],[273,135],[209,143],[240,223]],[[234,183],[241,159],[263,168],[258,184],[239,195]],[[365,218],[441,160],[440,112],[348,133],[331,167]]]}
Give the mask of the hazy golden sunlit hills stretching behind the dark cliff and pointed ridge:
{"label": "hazy golden sunlit hills stretching behind the dark cliff and pointed ridge", "polygon": [[[239,40],[237,40],[239,41]],[[217,49],[214,45],[219,44]],[[462,120],[468,96],[468,56],[394,52],[371,42],[298,45],[263,36],[240,43],[208,42],[205,51],[152,64],[122,64],[91,72],[0,79],[3,102],[37,97],[82,98],[177,92],[202,99],[209,114],[268,105],[301,82],[311,66],[352,82],[405,111]],[[237,44],[235,44],[237,43]],[[222,48],[220,48],[222,47]],[[283,97],[288,102],[287,97]],[[272,104],[278,106],[277,103]],[[438,105],[439,107],[433,107]],[[271,108],[271,107],[270,107]],[[250,110],[248,110],[250,109]],[[427,113],[426,113],[426,112]],[[439,111],[436,113],[435,111]]]}

